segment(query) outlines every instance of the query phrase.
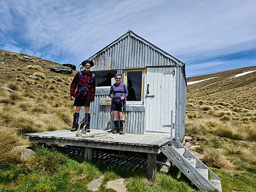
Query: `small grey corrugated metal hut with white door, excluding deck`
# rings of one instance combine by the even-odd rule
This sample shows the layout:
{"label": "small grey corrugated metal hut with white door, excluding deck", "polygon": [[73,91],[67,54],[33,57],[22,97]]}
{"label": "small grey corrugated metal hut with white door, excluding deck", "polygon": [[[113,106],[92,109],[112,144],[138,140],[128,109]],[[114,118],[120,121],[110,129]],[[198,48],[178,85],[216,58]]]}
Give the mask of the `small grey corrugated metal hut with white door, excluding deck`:
{"label": "small grey corrugated metal hut with white door, excluding deck", "polygon": [[127,98],[125,132],[183,140],[187,92],[185,63],[130,30],[88,59],[94,62],[91,70],[96,74],[97,84],[96,98],[90,109],[92,129],[109,128],[108,94],[115,82],[111,77],[121,73],[123,83],[133,88]]}

